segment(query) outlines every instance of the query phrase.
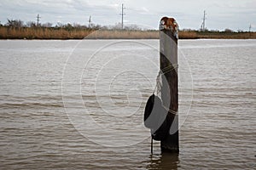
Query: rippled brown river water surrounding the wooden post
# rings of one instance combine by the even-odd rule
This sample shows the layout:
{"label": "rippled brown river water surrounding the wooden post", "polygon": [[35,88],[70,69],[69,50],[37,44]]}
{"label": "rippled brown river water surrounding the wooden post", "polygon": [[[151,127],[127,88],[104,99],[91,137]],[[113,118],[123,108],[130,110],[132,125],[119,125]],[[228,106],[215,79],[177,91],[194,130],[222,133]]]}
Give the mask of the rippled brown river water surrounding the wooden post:
{"label": "rippled brown river water surrounding the wooden post", "polygon": [[0,41],[0,169],[256,168],[256,41],[180,40],[180,153],[143,127],[157,40]]}

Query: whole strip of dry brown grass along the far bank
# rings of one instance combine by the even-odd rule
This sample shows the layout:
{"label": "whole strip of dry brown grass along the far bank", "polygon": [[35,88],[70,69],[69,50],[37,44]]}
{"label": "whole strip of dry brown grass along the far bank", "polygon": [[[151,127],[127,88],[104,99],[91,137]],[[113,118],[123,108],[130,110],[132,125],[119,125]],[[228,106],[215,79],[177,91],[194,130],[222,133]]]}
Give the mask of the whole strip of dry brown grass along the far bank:
{"label": "whole strip of dry brown grass along the far bank", "polygon": [[[64,28],[22,27],[11,28],[0,26],[0,39],[159,39],[159,31],[120,31]],[[256,38],[256,32],[219,32],[219,31],[179,31],[180,39],[215,38],[247,39]]]}

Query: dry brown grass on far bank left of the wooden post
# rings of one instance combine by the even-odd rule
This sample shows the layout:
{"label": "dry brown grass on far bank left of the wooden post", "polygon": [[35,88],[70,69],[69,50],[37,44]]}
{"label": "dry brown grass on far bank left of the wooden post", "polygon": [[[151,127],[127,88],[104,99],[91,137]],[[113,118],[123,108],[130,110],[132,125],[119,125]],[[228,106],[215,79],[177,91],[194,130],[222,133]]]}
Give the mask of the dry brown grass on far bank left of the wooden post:
{"label": "dry brown grass on far bank left of the wooden post", "polygon": [[0,38],[2,39],[156,39],[159,38],[158,31],[118,31],[118,30],[72,30],[63,28],[9,28],[0,27]]}

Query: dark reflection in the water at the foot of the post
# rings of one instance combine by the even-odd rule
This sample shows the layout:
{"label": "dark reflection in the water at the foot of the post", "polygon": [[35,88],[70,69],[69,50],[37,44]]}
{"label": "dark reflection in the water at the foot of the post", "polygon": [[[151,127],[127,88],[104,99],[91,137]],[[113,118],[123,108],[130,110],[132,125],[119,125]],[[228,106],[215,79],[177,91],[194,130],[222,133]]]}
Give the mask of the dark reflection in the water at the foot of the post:
{"label": "dark reflection in the water at the foot of the post", "polygon": [[147,169],[177,169],[179,164],[178,153],[161,153],[149,156]]}

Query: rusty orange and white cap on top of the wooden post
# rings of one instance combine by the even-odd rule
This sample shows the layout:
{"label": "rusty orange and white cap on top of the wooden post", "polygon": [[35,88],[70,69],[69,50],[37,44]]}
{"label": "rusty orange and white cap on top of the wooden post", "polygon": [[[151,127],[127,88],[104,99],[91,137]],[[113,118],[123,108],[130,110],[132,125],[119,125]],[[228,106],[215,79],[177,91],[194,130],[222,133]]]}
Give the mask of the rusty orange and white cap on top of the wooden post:
{"label": "rusty orange and white cap on top of the wooden post", "polygon": [[168,18],[168,17],[163,17],[161,20],[160,20],[160,31],[162,30],[170,30],[173,32],[173,35],[175,37],[177,37],[178,35],[178,25],[177,25],[177,22],[174,18]]}

